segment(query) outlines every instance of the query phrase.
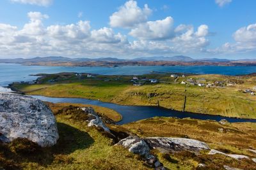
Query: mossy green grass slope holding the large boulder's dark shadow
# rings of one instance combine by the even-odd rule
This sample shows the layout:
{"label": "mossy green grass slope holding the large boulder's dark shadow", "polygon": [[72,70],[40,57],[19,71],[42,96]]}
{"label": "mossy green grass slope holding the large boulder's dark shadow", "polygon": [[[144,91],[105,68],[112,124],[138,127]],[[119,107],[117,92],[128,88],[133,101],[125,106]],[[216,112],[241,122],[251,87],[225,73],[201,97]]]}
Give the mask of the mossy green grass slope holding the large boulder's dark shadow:
{"label": "mossy green grass slope holding the large boulder's dark shadow", "polygon": [[[50,106],[56,115],[65,105]],[[56,119],[60,134],[56,146],[42,149],[19,139],[7,146],[0,143],[0,169],[150,169],[138,155],[113,146],[112,139],[87,127],[83,117],[57,114]]]}

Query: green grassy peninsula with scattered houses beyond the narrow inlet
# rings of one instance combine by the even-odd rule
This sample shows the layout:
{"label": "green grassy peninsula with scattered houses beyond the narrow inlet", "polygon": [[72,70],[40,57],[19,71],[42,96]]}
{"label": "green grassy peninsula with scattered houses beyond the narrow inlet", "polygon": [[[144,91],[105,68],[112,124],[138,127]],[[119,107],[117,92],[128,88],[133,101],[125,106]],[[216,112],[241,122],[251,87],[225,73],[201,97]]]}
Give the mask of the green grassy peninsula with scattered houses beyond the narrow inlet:
{"label": "green grassy peninsula with scattered houses beyond the narrow inlet", "polygon": [[[133,86],[132,76],[100,76],[77,78],[74,74],[44,76],[38,84],[16,83],[13,87],[26,94],[49,97],[81,97],[124,105],[160,106],[182,111],[186,95],[186,111],[222,115],[225,117],[256,118],[256,96],[239,90],[256,86],[256,76],[188,75],[171,78],[168,74],[148,74],[142,78],[157,78],[159,83]],[[205,83],[232,81],[230,87],[198,87],[182,85],[187,78],[205,78]],[[49,82],[49,80],[54,80]],[[186,90],[186,92],[185,92]]]}

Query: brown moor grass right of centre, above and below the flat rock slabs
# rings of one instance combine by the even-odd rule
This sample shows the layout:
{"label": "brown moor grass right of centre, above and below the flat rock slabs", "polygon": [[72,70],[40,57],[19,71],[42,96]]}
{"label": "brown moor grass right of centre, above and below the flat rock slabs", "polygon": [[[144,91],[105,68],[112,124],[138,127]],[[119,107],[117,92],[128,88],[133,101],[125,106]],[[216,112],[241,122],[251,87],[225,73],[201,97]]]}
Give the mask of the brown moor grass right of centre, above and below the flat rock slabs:
{"label": "brown moor grass right of centre, above and below the flat rock slabs", "polygon": [[[122,125],[140,137],[165,136],[198,139],[210,148],[225,153],[256,157],[246,149],[256,148],[256,124],[232,123],[221,125],[216,121],[177,119],[156,117]],[[223,129],[220,132],[219,129]],[[256,164],[249,160],[234,160],[223,155],[207,155],[202,152],[195,155],[189,152],[159,153],[157,157],[168,169],[195,169],[198,163],[206,164],[205,169],[223,169],[223,166],[241,169],[256,169]]]}

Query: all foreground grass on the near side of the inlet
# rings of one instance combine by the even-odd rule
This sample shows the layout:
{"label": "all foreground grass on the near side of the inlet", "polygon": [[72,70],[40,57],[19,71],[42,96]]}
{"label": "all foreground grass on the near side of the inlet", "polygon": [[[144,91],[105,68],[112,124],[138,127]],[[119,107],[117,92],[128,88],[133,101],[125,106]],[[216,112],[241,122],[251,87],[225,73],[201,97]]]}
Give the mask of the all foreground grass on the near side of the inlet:
{"label": "all foreground grass on the near side of the inlet", "polygon": [[[145,165],[142,157],[122,146],[115,146],[102,131],[87,127],[83,113],[61,111],[70,108],[69,104],[48,104],[58,122],[60,139],[56,146],[38,148],[24,139],[17,139],[8,145],[0,143],[0,169],[152,169]],[[108,110],[98,108],[98,111],[104,113]],[[256,157],[255,153],[246,150],[256,148],[256,124],[252,123],[221,125],[215,121],[156,117],[122,126],[107,125],[112,131],[129,132],[140,137],[199,139],[221,152]],[[152,153],[167,169],[195,169],[200,163],[207,166],[205,169],[223,169],[224,165],[256,169],[252,160],[207,155],[207,152],[162,153],[152,150]]]}

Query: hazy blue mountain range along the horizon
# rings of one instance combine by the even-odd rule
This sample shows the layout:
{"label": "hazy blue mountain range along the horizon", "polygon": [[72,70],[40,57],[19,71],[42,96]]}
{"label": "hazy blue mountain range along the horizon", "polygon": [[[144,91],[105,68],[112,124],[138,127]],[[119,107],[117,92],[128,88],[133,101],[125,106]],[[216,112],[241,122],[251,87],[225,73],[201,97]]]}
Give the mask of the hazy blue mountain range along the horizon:
{"label": "hazy blue mountain range along the horizon", "polygon": [[35,63],[35,62],[156,62],[156,61],[168,61],[168,62],[253,62],[256,61],[256,59],[241,59],[241,60],[229,60],[229,59],[216,59],[216,58],[210,58],[210,59],[193,59],[188,56],[184,55],[177,55],[173,57],[138,57],[135,59],[117,59],[113,57],[102,57],[97,59],[89,59],[89,58],[68,58],[68,57],[34,57],[31,59],[0,59],[0,63],[18,63],[18,64],[24,64],[24,63]]}

